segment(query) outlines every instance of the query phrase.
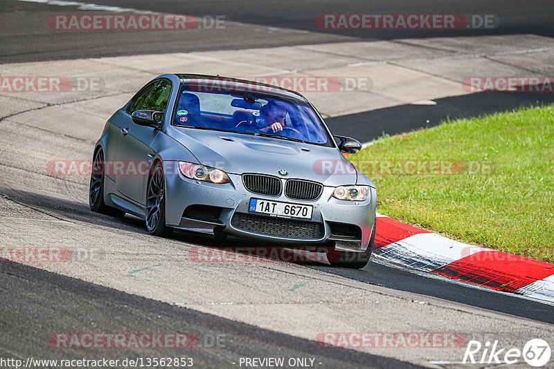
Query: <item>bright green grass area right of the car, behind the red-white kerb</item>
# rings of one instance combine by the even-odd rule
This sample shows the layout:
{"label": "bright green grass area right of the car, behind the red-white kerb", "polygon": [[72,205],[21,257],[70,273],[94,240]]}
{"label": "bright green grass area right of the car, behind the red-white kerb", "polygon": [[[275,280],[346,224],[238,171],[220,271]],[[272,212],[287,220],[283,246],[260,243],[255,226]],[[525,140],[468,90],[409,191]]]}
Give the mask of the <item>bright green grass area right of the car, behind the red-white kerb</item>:
{"label": "bright green grass area right of the car, behind the red-white kerb", "polygon": [[554,262],[554,106],[383,137],[348,159],[375,182],[380,213]]}

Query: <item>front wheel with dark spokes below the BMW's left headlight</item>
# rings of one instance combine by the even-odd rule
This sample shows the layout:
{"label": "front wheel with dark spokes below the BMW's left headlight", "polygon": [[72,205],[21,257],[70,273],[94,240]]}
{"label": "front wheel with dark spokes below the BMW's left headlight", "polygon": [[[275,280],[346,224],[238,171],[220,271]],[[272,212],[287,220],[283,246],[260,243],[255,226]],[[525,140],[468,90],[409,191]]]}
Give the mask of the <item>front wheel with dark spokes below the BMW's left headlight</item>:
{"label": "front wheel with dark spokes below the BMW's left headlight", "polygon": [[168,236],[166,225],[166,178],[163,165],[157,162],[152,169],[146,190],[146,229],[154,236]]}

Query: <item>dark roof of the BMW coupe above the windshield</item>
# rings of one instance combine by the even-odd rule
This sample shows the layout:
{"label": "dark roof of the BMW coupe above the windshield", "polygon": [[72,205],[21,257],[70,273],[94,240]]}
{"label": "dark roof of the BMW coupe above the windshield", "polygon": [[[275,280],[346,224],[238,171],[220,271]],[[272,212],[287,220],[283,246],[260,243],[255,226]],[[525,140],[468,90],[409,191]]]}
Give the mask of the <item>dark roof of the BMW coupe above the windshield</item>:
{"label": "dark roof of the BMW coupe above the windshield", "polygon": [[[185,82],[194,81],[195,79],[208,80],[213,82],[214,85],[225,84],[227,88],[229,86],[236,86],[240,91],[249,91],[253,93],[270,93],[275,95],[281,95],[283,97],[289,97],[296,100],[300,99],[307,102],[306,98],[303,97],[303,95],[301,95],[300,93],[297,93],[296,91],[288,90],[287,88],[283,88],[280,86],[274,86],[272,84],[253,82],[247,79],[240,79],[240,78],[234,78],[234,77],[222,77],[220,75],[197,75],[197,74],[184,74],[184,73],[182,74],[179,73],[175,75],[179,77],[181,84]],[[267,78],[271,78],[271,77],[267,77]],[[208,86],[208,88],[210,88],[210,86]]]}

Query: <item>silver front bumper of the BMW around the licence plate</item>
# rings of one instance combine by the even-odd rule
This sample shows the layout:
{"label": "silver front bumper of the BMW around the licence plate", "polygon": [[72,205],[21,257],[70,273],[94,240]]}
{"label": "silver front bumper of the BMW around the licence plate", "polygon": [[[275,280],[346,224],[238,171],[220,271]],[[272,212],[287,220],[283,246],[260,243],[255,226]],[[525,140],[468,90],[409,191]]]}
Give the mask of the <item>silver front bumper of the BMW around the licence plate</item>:
{"label": "silver front bumper of the BMW around the licence plate", "polygon": [[[363,252],[368,247],[375,225],[373,187],[370,187],[370,196],[363,202],[333,198],[334,187],[323,187],[323,193],[316,200],[294,200],[287,198],[283,191],[280,196],[251,193],[244,188],[240,175],[229,174],[229,178],[230,183],[213,184],[190,180],[181,173],[166,176],[166,224],[184,231],[203,234],[224,232],[239,238],[280,243],[287,247],[330,241],[341,251]],[[281,180],[284,188],[286,178]],[[286,220],[249,214],[251,198],[313,205],[312,219]],[[215,211],[211,216],[185,214],[187,208],[191,209],[189,207],[195,205],[214,207],[220,211]],[[359,231],[353,235],[337,231],[344,224],[355,225]]]}

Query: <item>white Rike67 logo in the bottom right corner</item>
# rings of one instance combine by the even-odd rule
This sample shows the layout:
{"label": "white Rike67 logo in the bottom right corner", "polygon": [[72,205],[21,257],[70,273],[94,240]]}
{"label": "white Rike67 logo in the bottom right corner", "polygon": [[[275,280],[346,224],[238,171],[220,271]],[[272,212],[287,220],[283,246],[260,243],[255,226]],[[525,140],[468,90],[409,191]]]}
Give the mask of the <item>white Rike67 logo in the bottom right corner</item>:
{"label": "white Rike67 logo in the bottom right corner", "polygon": [[543,339],[531,339],[523,350],[519,348],[499,348],[498,341],[490,341],[483,345],[479,341],[469,341],[462,363],[480,364],[515,364],[524,359],[530,366],[538,368],[548,363],[551,357],[550,345]]}

